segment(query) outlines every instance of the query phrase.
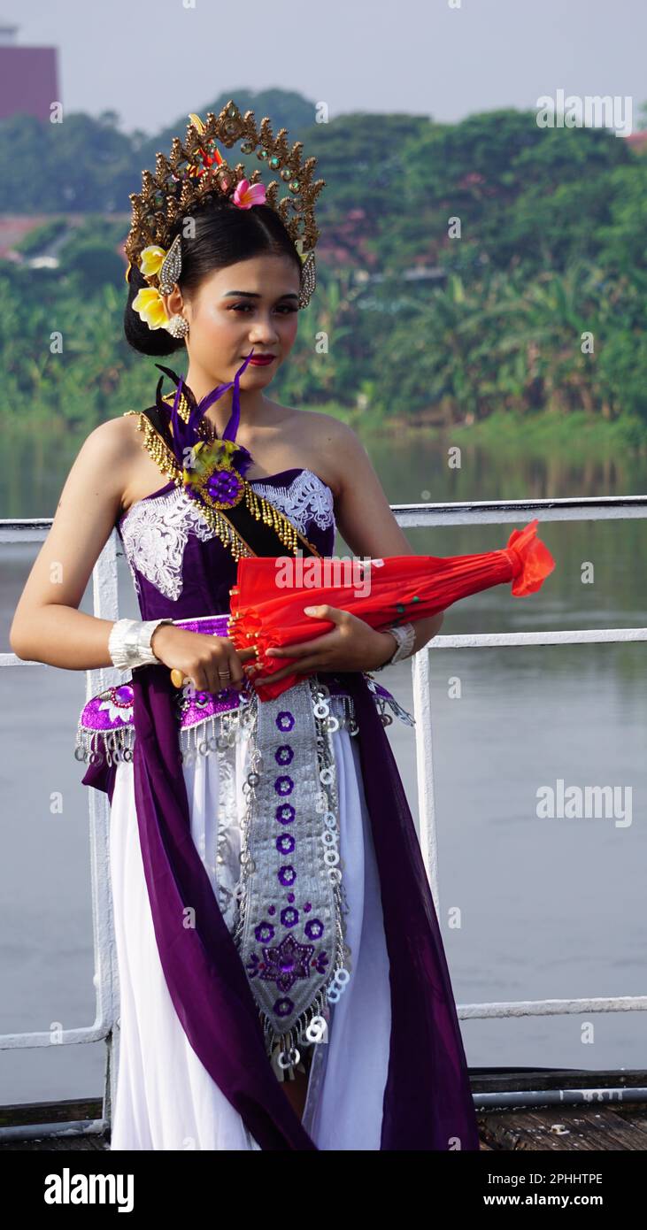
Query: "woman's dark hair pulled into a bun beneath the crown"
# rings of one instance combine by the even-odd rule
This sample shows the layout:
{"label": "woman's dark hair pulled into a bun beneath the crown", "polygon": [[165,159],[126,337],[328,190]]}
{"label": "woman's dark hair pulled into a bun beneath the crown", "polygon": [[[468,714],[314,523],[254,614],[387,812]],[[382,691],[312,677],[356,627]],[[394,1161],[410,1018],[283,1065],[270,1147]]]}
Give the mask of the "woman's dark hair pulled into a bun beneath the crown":
{"label": "woman's dark hair pulled into a bun beneath the crown", "polygon": [[[226,197],[209,197],[194,212],[187,210],[187,216],[196,223],[193,237],[187,239],[182,234],[185,219],[181,219],[166,246],[171,246],[176,235],[182,236],[182,273],[177,284],[188,295],[196,294],[200,282],[214,269],[224,269],[228,264],[262,253],[292,257],[299,274],[301,272],[294,242],[271,205],[240,209]],[[148,285],[144,274],[133,263],[123,317],[125,339],[140,354],[175,354],[185,348],[183,338],[172,337],[166,328],[149,328],[145,320],[133,311],[133,299]]]}

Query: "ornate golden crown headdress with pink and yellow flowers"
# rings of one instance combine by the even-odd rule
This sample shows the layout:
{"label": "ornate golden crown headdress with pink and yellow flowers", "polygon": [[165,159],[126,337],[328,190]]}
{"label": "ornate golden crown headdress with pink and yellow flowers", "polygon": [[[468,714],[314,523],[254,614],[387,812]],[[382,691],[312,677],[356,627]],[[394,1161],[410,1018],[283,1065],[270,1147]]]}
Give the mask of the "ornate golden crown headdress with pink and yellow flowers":
{"label": "ornate golden crown headdress with pink and yellow flowers", "polygon": [[[232,98],[216,117],[207,113],[207,123],[199,116],[189,114],[185,143],[173,137],[171,155],[155,155],[155,175],[141,172],[141,192],[132,192],[132,225],[125,240],[128,280],[132,264],[138,264],[146,282],[146,289],[133,300],[150,328],[167,327],[161,294],[170,294],[182,269],[181,239],[176,235],[167,247],[173,229],[196,204],[218,192],[230,197],[241,209],[255,204],[268,204],[284,223],[301,258],[301,287],[299,306],[306,308],[316,285],[314,248],[319,239],[315,221],[315,202],[325,180],[312,180],[316,157],[303,160],[303,143],[288,145],[287,128],[272,133],[268,117],[256,127],[253,111],[241,116]],[[231,167],[220,154],[216,141],[228,149],[240,141],[241,154],[256,153],[257,159],[278,173],[278,180],[263,184],[261,171],[252,171],[250,178],[242,162]],[[285,186],[288,194],[280,197]],[[161,293],[161,294],[160,294]],[[177,317],[173,317],[177,320]],[[171,328],[171,332],[173,330]],[[176,333],[175,336],[182,336]]]}

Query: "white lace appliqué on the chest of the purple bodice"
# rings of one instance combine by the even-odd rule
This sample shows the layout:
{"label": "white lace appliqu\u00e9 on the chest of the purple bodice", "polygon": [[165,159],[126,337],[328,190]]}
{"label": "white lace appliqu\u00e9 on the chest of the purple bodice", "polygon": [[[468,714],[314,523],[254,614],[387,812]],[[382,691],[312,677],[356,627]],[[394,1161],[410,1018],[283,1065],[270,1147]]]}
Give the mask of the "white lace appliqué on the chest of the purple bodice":
{"label": "white lace appliqu\u00e9 on the chest of the purple bodice", "polygon": [[[311,470],[304,470],[285,487],[262,486],[262,478],[250,478],[250,482],[305,536],[311,522],[320,529],[335,525],[332,491]],[[172,601],[180,598],[182,561],[189,534],[202,542],[216,536],[182,487],[153,499],[138,499],[128,509],[121,522],[121,535],[138,595],[140,572],[166,598]]]}

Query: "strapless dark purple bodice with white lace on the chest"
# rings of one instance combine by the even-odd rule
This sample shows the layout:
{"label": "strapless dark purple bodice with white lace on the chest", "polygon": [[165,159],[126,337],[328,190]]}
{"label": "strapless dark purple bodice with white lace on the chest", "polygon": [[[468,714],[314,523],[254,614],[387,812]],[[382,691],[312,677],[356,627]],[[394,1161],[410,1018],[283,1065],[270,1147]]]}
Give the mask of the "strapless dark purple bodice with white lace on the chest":
{"label": "strapless dark purple bodice with white lace on the chest", "polygon": [[[333,496],[319,475],[294,466],[248,481],[257,496],[273,503],[321,555],[332,555]],[[171,481],[135,501],[119,517],[117,530],[141,619],[177,620],[229,611],[236,561],[182,487]]]}

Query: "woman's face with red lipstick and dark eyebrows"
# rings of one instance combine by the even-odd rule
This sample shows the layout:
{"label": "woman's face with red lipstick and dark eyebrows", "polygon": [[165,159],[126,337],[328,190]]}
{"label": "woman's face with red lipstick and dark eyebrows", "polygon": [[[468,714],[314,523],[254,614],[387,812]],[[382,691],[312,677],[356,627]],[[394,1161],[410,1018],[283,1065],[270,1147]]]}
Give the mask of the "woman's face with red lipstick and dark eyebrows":
{"label": "woman's face with red lipstick and dark eyebrows", "polygon": [[[167,300],[170,315],[180,310],[175,295],[180,301],[177,288]],[[294,344],[298,299],[299,269],[288,256],[255,256],[214,271],[183,303],[191,371],[214,385],[232,380],[253,347],[255,357],[273,360],[248,363],[241,389],[268,385]]]}

